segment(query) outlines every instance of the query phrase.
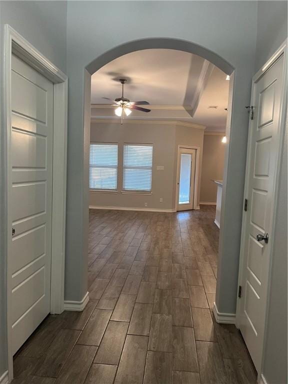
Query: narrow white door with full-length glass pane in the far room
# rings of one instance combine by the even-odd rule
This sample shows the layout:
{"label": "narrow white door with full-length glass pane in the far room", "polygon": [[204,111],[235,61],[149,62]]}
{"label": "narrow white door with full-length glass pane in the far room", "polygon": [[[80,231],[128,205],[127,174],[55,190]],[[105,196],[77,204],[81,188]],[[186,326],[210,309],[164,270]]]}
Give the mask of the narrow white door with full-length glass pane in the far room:
{"label": "narrow white door with full-length glass pane in the far room", "polygon": [[196,149],[179,148],[177,169],[177,210],[193,209]]}

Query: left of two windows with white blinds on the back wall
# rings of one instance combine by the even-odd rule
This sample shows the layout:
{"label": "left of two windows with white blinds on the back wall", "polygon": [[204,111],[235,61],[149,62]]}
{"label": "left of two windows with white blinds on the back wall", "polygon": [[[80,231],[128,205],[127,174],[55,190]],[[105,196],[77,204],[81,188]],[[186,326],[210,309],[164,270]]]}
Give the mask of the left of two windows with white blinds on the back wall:
{"label": "left of two windows with white blinds on the back wall", "polygon": [[89,188],[116,190],[117,164],[117,144],[90,144]]}

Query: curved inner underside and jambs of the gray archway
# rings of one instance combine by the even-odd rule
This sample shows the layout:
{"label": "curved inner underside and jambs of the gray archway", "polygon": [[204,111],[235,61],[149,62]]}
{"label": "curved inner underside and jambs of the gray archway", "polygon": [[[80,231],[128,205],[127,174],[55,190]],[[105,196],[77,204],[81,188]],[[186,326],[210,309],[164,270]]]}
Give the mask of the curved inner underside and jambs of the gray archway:
{"label": "curved inner underside and jambs of the gray archway", "polygon": [[[228,162],[229,162],[229,136],[230,136],[230,122],[231,122],[231,112],[232,112],[232,95],[233,95],[233,80],[234,80],[234,68],[231,64],[229,64],[225,59],[217,55],[216,53],[210,51],[209,49],[206,49],[198,44],[192,43],[190,41],[185,40],[179,40],[179,39],[173,39],[173,38],[149,38],[149,39],[140,39],[140,40],[134,40],[129,41],[125,44],[119,45],[114,47],[111,50],[108,50],[107,52],[103,53],[102,55],[95,58],[93,61],[91,61],[87,66],[84,73],[84,164],[88,164],[88,150],[89,147],[89,130],[90,130],[90,76],[95,71],[97,71],[99,68],[101,68],[106,63],[110,62],[111,60],[122,56],[124,54],[136,51],[136,50],[143,50],[143,49],[151,49],[151,48],[167,48],[167,49],[175,49],[175,50],[183,50],[189,53],[197,54],[199,56],[202,56],[203,58],[209,60],[214,65],[219,67],[223,72],[230,75],[230,90],[229,90],[229,107],[228,107],[228,115],[227,115],[227,126],[226,126],[226,136],[227,136],[227,144],[228,147],[226,149],[226,159],[224,164],[224,175],[223,175],[223,195],[222,195],[222,214],[221,214],[221,220],[224,222],[224,225],[222,226],[220,230],[220,239],[219,239],[219,267],[218,267],[218,278],[217,278],[217,291],[216,291],[216,303],[217,308],[222,308],[221,300],[223,299],[223,302],[225,303],[227,301],[227,297],[223,298],[222,290],[224,290],[227,294],[227,285],[231,288],[230,289],[230,297],[229,301],[231,306],[235,305],[236,302],[236,286],[237,286],[237,267],[238,263],[234,262],[235,260],[232,260],[234,262],[234,265],[232,266],[232,269],[234,269],[234,273],[231,273],[231,269],[229,270],[229,267],[227,269],[227,262],[226,258],[228,257],[228,253],[226,250],[226,247],[229,246],[229,238],[230,234],[226,230],[227,227],[231,228],[231,223],[233,220],[233,217],[228,217],[228,211],[229,204],[231,204],[230,200],[233,200],[232,193],[227,191],[227,173],[228,173]],[[88,175],[87,175],[87,169],[84,171],[85,179],[84,179],[84,190],[83,190],[83,196],[85,198],[85,201],[88,200]],[[228,197],[228,202],[226,202],[226,197]],[[86,204],[88,206],[88,204]],[[86,228],[85,233],[87,233],[87,224],[88,224],[88,214],[87,212],[84,213],[84,226]],[[230,221],[229,221],[230,220]],[[240,228],[240,225],[239,225]],[[238,232],[238,237],[240,238],[240,231]],[[83,238],[84,242],[87,242],[87,234],[84,235]],[[231,260],[230,260],[231,261]],[[232,276],[232,278],[231,278]],[[224,312],[224,310],[222,310]],[[227,311],[228,312],[228,311]],[[226,311],[225,311],[226,313]],[[231,322],[233,322],[233,315],[231,316]]]}

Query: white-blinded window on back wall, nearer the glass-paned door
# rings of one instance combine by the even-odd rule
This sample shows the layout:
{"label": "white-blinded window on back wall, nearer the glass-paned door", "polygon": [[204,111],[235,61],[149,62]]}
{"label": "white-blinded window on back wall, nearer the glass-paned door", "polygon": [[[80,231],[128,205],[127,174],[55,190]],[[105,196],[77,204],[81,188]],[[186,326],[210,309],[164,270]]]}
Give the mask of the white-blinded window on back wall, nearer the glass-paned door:
{"label": "white-blinded window on back wall, nearer the glass-paned door", "polygon": [[151,144],[124,144],[123,190],[151,191]]}

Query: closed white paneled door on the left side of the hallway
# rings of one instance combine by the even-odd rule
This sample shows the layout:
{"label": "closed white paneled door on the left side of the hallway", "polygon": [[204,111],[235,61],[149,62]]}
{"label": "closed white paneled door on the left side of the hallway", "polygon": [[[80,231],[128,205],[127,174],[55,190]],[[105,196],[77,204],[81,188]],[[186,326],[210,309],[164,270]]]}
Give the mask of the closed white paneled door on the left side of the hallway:
{"label": "closed white paneled door on the left side of the hallway", "polygon": [[50,311],[53,85],[12,55],[8,271],[14,354]]}

